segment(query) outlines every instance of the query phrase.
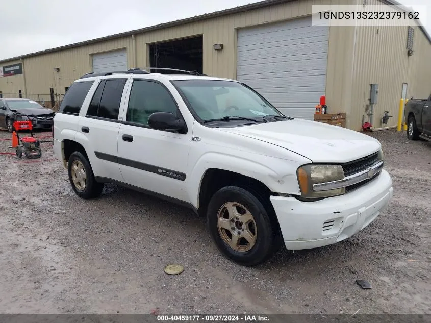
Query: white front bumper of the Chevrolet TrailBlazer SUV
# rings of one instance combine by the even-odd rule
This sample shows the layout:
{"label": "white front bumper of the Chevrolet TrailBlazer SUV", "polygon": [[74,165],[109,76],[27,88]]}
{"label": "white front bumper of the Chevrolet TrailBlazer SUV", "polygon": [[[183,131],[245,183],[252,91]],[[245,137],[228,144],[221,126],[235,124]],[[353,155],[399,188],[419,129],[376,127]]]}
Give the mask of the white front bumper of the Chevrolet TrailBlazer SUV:
{"label": "white front bumper of the Chevrolet TrailBlazer SUV", "polygon": [[386,170],[364,186],[347,194],[316,202],[271,196],[287,249],[320,247],[344,240],[368,226],[388,205],[393,195]]}

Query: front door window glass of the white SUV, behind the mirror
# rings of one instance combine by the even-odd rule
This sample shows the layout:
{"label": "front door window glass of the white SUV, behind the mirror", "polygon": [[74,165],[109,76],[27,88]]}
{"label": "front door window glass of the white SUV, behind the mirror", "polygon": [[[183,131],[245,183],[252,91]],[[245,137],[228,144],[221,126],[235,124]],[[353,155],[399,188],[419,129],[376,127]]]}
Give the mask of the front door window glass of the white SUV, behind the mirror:
{"label": "front door window glass of the white SUV, behind the mirror", "polygon": [[151,113],[170,112],[176,115],[177,110],[175,101],[162,85],[136,80],[130,92],[126,121],[148,125]]}

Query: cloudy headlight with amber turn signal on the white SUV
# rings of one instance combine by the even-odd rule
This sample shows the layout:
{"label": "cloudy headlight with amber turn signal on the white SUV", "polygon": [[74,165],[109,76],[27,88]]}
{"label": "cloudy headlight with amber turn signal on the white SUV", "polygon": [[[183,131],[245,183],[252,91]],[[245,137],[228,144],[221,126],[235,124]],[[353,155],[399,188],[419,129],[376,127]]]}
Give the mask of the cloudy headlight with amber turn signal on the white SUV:
{"label": "cloudy headlight with amber turn signal on the white SUV", "polygon": [[344,187],[327,191],[313,190],[313,184],[342,180],[344,171],[340,165],[305,165],[298,168],[297,176],[303,198],[322,198],[346,192]]}

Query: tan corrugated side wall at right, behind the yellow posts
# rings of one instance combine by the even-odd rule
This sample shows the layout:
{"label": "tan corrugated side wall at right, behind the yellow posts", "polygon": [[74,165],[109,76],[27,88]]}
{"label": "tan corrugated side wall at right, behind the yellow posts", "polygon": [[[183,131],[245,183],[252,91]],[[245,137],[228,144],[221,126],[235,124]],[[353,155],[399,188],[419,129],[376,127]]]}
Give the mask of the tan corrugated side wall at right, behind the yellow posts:
{"label": "tan corrugated side wall at right, behind the yellow posts", "polygon": [[[378,0],[369,5],[378,5]],[[360,130],[369,104],[370,84],[379,85],[373,127],[381,128],[384,111],[393,117],[387,127],[397,124],[402,83],[407,97],[427,97],[431,91],[431,44],[418,27],[414,32],[414,55],[407,55],[407,26],[359,27],[354,51],[351,109],[347,127]]]}

